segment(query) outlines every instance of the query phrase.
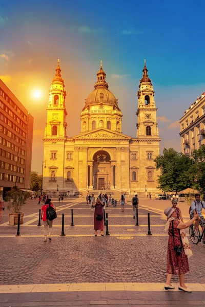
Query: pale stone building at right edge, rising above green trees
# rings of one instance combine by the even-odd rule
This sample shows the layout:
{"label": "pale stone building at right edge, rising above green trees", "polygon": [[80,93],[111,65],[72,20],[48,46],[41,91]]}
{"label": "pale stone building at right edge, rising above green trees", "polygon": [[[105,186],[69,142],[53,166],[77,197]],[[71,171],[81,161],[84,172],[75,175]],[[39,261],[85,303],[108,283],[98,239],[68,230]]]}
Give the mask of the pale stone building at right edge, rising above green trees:
{"label": "pale stone building at right edge, rising above green trees", "polygon": [[181,152],[191,157],[194,149],[205,145],[205,92],[190,105],[179,123]]}

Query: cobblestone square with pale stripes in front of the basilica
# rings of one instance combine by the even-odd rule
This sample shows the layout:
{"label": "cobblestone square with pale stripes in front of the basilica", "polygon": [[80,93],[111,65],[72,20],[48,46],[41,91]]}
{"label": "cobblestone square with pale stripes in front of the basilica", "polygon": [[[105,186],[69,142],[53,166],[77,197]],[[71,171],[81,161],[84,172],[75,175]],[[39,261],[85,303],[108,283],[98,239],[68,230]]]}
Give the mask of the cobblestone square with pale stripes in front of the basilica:
{"label": "cobblestone square with pale stripes in front of the basilica", "polygon": [[[150,212],[153,236],[146,236],[147,210],[139,209],[140,226],[135,226],[131,205],[126,206],[124,213],[120,208],[108,207],[111,235],[94,237],[93,212],[84,200],[69,199],[63,204],[56,202],[56,206],[59,217],[54,221],[51,242],[43,242],[43,227],[36,226],[39,206],[33,202],[25,207],[21,237],[15,237],[16,226],[0,227],[3,250],[0,284],[165,281],[168,236],[164,231],[166,220],[160,211]],[[74,227],[67,226],[71,222],[68,216],[71,208]],[[3,223],[8,222],[5,212],[7,221]],[[62,213],[65,214],[65,237],[59,236]],[[203,282],[204,245],[192,245],[192,248],[194,256],[190,258],[191,273],[187,281]],[[51,268],[52,274],[45,274]]]}

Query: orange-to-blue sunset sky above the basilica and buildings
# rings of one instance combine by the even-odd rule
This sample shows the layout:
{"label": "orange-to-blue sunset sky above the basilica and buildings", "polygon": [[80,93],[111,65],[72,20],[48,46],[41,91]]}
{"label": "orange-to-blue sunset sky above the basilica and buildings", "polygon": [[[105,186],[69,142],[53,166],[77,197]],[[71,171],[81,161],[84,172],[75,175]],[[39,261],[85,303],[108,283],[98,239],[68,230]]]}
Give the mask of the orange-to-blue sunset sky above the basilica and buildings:
{"label": "orange-to-blue sunset sky above the basilica and buildings", "polygon": [[[100,60],[124,115],[122,130],[136,135],[136,93],[146,58],[161,150],[180,151],[178,120],[205,91],[204,9],[203,0],[0,0],[0,76],[34,116],[33,170],[40,172],[37,155],[43,157],[57,58],[67,90],[69,136],[80,131],[80,111]],[[32,99],[34,88],[42,90],[40,101]]]}

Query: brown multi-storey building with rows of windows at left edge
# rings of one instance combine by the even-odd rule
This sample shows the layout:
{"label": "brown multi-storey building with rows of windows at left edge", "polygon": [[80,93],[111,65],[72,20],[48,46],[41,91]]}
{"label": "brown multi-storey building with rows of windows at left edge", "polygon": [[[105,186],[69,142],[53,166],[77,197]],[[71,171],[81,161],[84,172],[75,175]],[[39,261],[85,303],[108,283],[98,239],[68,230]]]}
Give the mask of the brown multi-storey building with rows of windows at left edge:
{"label": "brown multi-storey building with rows of windows at left edge", "polygon": [[33,117],[0,79],[0,193],[29,189]]}

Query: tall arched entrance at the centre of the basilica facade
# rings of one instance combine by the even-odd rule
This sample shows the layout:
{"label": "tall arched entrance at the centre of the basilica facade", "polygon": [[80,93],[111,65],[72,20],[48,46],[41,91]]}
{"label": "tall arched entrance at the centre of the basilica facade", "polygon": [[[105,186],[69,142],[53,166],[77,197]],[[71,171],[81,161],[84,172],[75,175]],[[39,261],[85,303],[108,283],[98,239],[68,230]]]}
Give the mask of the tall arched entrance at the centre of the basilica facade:
{"label": "tall arched entrance at the centre of the basilica facade", "polygon": [[111,161],[105,150],[99,150],[93,156],[93,188],[107,190],[111,186]]}

